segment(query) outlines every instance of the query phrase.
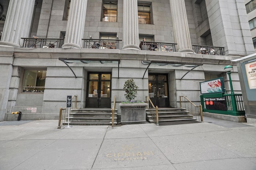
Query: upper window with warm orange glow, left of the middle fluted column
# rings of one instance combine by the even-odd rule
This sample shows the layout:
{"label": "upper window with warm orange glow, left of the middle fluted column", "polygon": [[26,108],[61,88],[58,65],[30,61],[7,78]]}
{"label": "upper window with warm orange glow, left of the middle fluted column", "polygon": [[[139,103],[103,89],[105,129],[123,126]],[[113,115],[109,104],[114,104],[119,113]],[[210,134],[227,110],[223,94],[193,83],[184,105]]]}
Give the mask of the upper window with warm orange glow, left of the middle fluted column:
{"label": "upper window with warm orange glow, left of the middle fluted column", "polygon": [[102,5],[102,21],[117,21],[117,1],[103,1]]}

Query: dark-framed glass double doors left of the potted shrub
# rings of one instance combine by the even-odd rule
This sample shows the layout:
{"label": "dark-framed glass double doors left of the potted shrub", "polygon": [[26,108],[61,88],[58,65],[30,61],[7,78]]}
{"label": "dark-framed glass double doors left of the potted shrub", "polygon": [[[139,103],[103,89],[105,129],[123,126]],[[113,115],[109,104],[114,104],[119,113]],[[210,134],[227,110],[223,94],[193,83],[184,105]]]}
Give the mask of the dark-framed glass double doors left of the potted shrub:
{"label": "dark-framed glass double doors left of the potted shrub", "polygon": [[90,72],[87,81],[87,108],[111,108],[111,73]]}

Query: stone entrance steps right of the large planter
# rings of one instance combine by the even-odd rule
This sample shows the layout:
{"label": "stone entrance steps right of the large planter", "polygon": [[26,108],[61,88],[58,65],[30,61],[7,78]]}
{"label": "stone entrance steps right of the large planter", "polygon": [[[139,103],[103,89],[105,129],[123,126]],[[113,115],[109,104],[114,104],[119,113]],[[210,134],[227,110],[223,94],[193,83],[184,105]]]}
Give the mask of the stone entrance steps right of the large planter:
{"label": "stone entrance steps right of the large planter", "polygon": [[[146,120],[149,123],[154,123],[150,109],[146,109]],[[196,121],[193,115],[190,115],[186,109],[183,108],[158,108],[158,122],[178,122],[178,121]]]}

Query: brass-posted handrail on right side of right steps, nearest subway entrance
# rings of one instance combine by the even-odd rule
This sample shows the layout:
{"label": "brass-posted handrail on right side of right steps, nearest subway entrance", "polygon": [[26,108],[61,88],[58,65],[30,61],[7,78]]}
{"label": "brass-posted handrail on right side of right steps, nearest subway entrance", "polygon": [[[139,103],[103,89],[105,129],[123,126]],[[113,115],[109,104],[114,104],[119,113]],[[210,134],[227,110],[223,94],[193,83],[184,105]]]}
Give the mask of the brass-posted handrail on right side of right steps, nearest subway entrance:
{"label": "brass-posted handrail on right side of right steps, nearest subway entrance", "polygon": [[185,96],[180,96],[180,108],[185,108],[188,111],[190,111],[192,115],[196,116],[196,120],[198,115],[198,121],[200,121],[199,120],[199,115],[200,115],[201,122],[203,121],[202,105],[196,106],[192,101],[190,101]]}

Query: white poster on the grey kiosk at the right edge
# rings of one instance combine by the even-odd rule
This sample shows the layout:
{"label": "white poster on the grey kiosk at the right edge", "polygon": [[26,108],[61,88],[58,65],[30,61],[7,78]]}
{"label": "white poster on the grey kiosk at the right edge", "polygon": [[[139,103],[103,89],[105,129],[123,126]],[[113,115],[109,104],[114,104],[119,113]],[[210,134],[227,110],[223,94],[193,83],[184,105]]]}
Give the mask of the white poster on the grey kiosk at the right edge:
{"label": "white poster on the grey kiosk at the right edge", "polygon": [[250,89],[256,89],[256,61],[244,65]]}

